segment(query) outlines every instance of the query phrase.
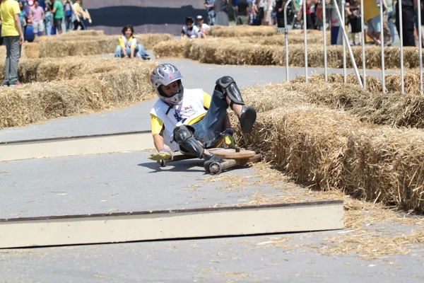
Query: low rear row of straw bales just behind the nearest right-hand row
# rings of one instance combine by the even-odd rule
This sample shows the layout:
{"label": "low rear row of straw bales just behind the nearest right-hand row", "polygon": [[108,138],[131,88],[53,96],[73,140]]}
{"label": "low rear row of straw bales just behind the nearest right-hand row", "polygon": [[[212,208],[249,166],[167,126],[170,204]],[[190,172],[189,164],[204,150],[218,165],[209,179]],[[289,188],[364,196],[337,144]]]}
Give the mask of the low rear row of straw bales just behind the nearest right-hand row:
{"label": "low rear row of straw bales just behind the nearest right-hand row", "polygon": [[258,112],[311,103],[345,110],[363,122],[392,127],[424,128],[424,97],[399,93],[370,93],[343,83],[280,83],[242,90]]}

